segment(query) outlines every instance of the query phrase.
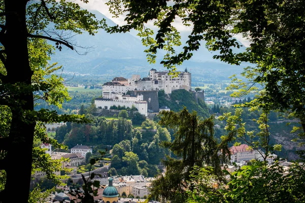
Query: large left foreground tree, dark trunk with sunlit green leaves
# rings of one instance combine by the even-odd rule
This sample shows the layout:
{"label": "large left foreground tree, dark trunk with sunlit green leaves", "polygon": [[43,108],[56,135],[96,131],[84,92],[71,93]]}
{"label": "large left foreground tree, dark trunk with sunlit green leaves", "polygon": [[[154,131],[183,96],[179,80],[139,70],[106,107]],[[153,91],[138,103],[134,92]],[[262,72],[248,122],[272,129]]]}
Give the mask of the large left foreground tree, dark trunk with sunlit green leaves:
{"label": "large left foreground tree, dark trunk with sunlit green leaves", "polygon": [[[6,152],[5,158],[0,160],[0,169],[6,171],[7,177],[5,188],[0,192],[0,201],[10,202],[15,195],[16,183],[22,182],[23,188],[18,191],[18,200],[27,202],[32,162],[34,161],[33,165],[36,167],[44,167],[44,162],[37,161],[40,160],[39,156],[33,157],[35,154],[38,155],[33,153],[36,124],[81,121],[81,117],[58,116],[55,111],[45,109],[34,111],[34,100],[44,99],[49,104],[59,105],[68,97],[62,88],[57,91],[59,90],[57,87],[62,84],[61,79],[50,76],[50,79],[44,80],[37,73],[44,72],[43,76],[52,73],[49,70],[52,66],[48,67],[46,61],[55,47],[48,47],[46,40],[55,43],[59,50],[62,50],[62,46],[74,49],[74,45],[67,42],[65,38],[67,35],[61,33],[71,30],[74,33],[87,31],[94,35],[101,23],[94,17],[77,4],[66,1],[1,1],[0,105],[1,108],[8,107],[11,114],[6,114],[9,117],[7,122],[10,127],[9,132],[7,134],[2,132],[0,135],[0,150]],[[47,29],[47,26],[51,25],[50,22],[53,29]],[[61,32],[62,30],[64,32]],[[37,50],[39,52],[36,52]],[[44,56],[36,58],[35,54],[39,53]],[[33,61],[33,58],[37,61]],[[41,132],[40,136],[36,134],[36,138],[43,142],[52,142],[47,141],[47,137],[43,136],[43,131],[39,130],[42,129],[41,126],[43,124],[36,127],[37,131]],[[53,141],[52,144],[55,146],[56,142]],[[20,151],[24,163],[21,171],[18,167],[9,167],[8,164],[20,155],[18,153]]]}

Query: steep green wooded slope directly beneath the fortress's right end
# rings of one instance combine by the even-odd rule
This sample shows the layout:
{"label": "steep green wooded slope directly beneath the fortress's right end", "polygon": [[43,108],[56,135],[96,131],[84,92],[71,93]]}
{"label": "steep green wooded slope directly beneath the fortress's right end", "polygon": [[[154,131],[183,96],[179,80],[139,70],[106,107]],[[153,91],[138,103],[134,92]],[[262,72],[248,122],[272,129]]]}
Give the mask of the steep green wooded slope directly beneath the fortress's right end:
{"label": "steep green wooded slope directly beneath the fortress's right end", "polygon": [[185,89],[178,89],[173,91],[169,97],[163,90],[158,92],[159,94],[159,106],[168,106],[172,111],[180,111],[184,106],[189,112],[197,111],[197,114],[201,117],[209,117],[208,107],[201,98],[198,98],[198,104],[193,96],[192,92]]}

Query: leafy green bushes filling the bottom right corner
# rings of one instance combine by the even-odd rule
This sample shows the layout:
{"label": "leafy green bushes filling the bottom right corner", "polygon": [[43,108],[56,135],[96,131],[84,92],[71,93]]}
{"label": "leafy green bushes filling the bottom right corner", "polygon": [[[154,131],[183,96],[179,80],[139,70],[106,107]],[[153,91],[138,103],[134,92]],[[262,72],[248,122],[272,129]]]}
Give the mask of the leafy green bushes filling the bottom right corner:
{"label": "leafy green bushes filling the bottom right corner", "polygon": [[[212,168],[195,168],[187,190],[188,202],[304,202],[304,165],[293,163],[286,171],[278,163],[242,166],[230,174],[228,183],[217,182]],[[283,175],[287,173],[287,175]]]}

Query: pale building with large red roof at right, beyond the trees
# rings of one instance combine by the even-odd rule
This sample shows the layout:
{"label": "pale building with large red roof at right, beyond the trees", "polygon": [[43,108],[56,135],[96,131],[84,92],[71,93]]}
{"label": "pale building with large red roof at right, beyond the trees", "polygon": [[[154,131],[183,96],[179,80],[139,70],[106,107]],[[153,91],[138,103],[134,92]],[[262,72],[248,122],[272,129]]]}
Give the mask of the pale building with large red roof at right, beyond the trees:
{"label": "pale building with large red roof at right, beyond the trees", "polygon": [[230,151],[231,162],[250,161],[252,159],[255,159],[254,150],[246,144],[232,146],[230,148]]}

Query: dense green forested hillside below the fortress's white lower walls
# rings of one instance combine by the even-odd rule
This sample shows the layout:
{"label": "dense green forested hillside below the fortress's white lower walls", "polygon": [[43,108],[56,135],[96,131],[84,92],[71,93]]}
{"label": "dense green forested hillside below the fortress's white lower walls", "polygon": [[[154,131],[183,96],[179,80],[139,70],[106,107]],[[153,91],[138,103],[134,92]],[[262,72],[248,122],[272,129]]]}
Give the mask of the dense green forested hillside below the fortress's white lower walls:
{"label": "dense green forested hillside below the fortress's white lower walls", "polygon": [[[98,150],[112,150],[111,167],[119,175],[154,177],[159,174],[160,160],[169,155],[169,150],[160,144],[170,142],[169,131],[155,121],[146,120],[141,127],[134,127],[131,120],[117,118],[106,120],[94,117],[89,124],[67,123],[56,129],[55,139],[69,148],[77,144],[93,146],[93,155]],[[115,175],[115,174],[113,174]]]}

